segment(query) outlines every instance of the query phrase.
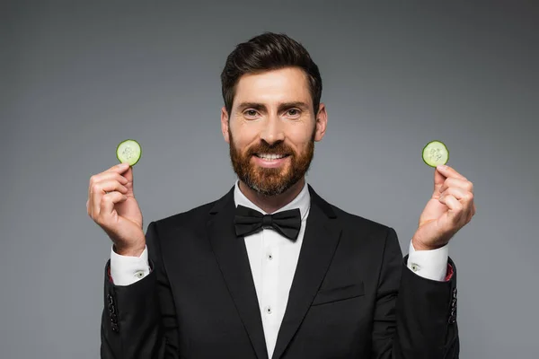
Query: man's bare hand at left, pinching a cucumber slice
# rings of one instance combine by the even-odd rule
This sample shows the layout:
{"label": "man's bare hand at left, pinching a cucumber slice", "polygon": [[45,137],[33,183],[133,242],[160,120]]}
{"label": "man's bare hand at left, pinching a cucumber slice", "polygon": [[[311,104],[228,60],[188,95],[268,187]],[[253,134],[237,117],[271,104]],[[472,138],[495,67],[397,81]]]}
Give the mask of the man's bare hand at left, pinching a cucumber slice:
{"label": "man's bare hand at left, pinching a cucumber slice", "polygon": [[133,169],[127,163],[90,178],[86,210],[108,234],[119,255],[139,257],[145,250],[142,212],[133,193]]}

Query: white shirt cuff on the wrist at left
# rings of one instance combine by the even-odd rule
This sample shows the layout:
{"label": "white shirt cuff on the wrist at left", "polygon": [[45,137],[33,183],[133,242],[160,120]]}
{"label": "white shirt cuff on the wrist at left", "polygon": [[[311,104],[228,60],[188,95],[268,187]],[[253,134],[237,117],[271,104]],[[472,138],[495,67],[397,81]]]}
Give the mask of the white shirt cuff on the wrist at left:
{"label": "white shirt cuff on the wrist at left", "polygon": [[148,250],[144,249],[140,257],[120,256],[110,249],[110,279],[114,285],[132,285],[150,274]]}

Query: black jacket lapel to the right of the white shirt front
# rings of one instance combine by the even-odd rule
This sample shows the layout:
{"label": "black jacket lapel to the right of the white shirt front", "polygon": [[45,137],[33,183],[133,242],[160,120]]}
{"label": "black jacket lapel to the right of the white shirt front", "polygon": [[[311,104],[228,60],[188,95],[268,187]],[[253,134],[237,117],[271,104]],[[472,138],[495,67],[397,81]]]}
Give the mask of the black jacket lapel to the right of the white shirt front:
{"label": "black jacket lapel to the right of the white shirt front", "polygon": [[322,285],[340,239],[340,226],[331,206],[309,186],[311,209],[296,273],[288,295],[272,359],[280,358],[305,318],[318,288]]}

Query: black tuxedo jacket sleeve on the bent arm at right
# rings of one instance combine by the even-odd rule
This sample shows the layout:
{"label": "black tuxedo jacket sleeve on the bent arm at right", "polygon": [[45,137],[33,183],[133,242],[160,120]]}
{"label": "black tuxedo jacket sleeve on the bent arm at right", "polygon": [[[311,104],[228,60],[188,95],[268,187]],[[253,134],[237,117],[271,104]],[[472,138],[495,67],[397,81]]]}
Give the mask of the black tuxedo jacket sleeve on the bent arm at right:
{"label": "black tuxedo jacket sleeve on the bent arm at right", "polygon": [[389,228],[378,279],[372,358],[458,359],[456,269],[446,282],[413,273],[402,258],[396,232]]}

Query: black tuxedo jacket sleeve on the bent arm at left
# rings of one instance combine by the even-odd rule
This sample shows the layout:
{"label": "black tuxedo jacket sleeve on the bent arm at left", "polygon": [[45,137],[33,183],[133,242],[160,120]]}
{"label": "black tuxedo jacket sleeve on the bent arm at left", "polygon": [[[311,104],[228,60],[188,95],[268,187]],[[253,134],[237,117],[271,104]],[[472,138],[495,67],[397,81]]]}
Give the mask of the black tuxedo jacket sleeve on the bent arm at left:
{"label": "black tuxedo jacket sleeve on the bent arm at left", "polygon": [[155,222],[148,225],[146,246],[152,271],[136,283],[114,285],[109,276],[110,261],[105,267],[102,359],[180,357],[176,312]]}

